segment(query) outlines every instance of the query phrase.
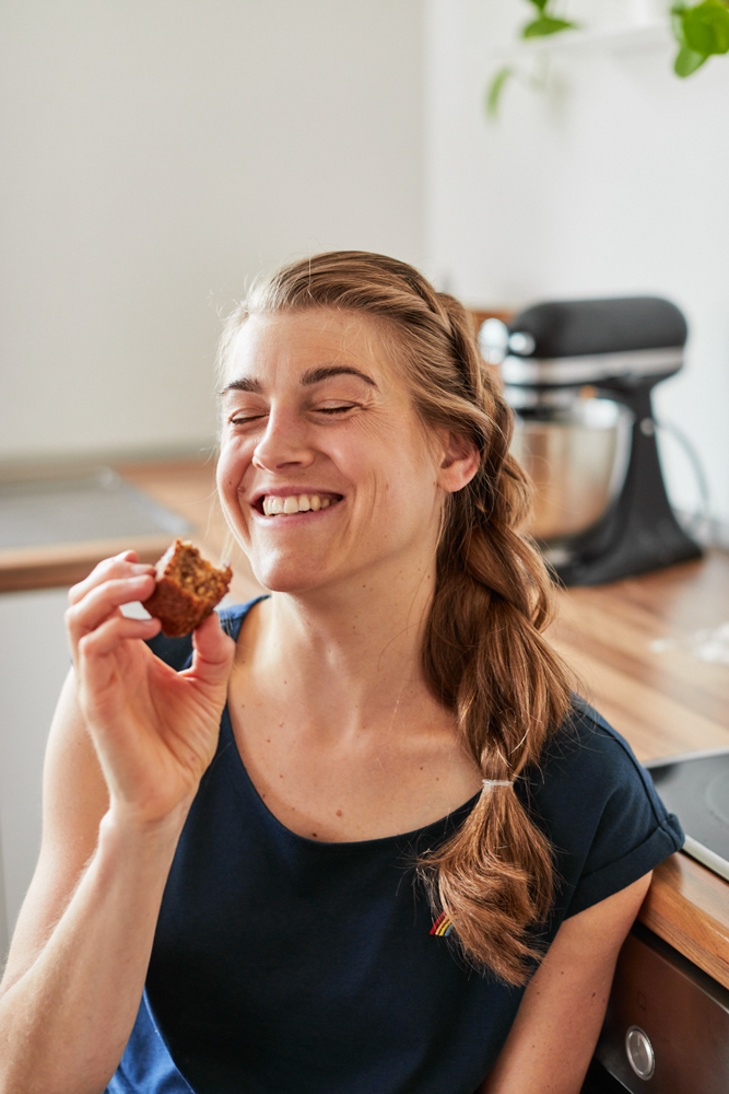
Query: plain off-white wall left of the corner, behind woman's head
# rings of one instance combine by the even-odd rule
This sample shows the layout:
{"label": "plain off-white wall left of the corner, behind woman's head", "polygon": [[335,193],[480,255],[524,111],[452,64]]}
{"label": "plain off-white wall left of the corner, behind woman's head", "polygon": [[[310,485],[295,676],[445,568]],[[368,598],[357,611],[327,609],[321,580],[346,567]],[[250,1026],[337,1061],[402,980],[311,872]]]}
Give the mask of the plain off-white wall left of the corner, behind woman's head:
{"label": "plain off-white wall left of the corner, behind woman's head", "polygon": [[0,458],[189,446],[246,278],[422,258],[420,0],[7,0]]}

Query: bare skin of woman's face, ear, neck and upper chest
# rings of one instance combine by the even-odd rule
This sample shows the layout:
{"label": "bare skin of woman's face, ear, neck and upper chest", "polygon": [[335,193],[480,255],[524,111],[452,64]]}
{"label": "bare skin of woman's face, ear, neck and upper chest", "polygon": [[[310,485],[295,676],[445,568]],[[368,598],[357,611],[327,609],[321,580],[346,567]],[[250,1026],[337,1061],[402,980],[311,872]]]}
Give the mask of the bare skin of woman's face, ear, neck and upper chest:
{"label": "bare skin of woman's face, ear, neck and upper chest", "polygon": [[[224,377],[221,500],[273,593],[238,637],[231,721],[267,807],[309,838],[411,831],[480,784],[419,637],[444,499],[478,459],[425,433],[395,352],[366,317],[269,316],[244,326]],[[341,500],[268,517],[267,493]]]}

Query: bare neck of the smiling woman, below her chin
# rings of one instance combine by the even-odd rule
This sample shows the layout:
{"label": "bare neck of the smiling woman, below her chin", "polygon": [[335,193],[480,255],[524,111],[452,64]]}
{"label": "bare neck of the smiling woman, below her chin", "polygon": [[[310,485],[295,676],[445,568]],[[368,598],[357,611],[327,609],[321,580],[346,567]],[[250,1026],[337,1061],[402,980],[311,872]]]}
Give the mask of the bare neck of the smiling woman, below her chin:
{"label": "bare neck of the smiling woman, below her chin", "polygon": [[242,636],[256,689],[317,732],[374,732],[436,706],[421,648],[435,589],[433,559],[364,574],[346,586],[273,593]]}

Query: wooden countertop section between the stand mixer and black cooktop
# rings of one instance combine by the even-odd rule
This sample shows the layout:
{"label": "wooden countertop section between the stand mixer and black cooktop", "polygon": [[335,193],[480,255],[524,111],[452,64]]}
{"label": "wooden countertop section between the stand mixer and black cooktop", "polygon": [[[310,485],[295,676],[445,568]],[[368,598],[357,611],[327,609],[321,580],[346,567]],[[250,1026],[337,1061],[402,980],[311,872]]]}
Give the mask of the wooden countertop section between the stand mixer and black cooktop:
{"label": "wooden countertop section between the stand mixer and black cooktop", "polygon": [[729,664],[698,655],[729,622],[729,555],[558,596],[550,638],[638,759],[729,746]]}

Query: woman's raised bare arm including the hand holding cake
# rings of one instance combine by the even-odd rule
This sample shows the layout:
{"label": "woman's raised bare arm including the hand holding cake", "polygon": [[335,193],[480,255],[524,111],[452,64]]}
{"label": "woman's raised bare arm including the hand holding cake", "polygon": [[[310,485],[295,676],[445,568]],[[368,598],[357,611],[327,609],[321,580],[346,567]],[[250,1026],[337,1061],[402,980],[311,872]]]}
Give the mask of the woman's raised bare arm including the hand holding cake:
{"label": "woman's raised bare arm including the hand holding cake", "polygon": [[118,610],[141,598],[148,569],[110,560],[71,591],[75,671],[51,728],[40,858],[0,985],[1,1094],[106,1087],[134,1022],[179,833],[214,753],[233,642],[210,618],[186,673],[154,657],[139,639],[158,624]]}

